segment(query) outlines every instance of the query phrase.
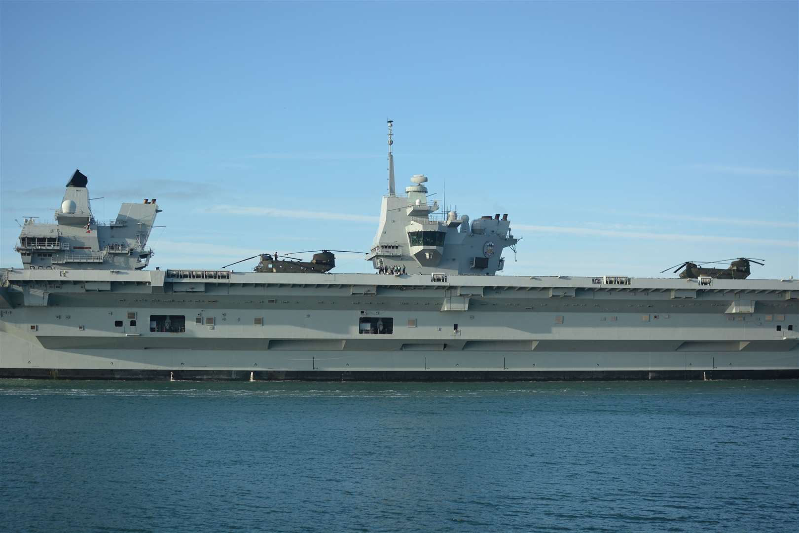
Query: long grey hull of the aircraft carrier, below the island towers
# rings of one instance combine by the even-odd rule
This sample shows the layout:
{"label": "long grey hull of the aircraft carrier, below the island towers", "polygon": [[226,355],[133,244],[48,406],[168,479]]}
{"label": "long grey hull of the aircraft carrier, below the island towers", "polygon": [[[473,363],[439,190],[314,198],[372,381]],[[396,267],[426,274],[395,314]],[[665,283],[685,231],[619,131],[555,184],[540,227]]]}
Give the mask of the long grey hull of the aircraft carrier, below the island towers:
{"label": "long grey hull of the aircraft carrier, below the island towers", "polygon": [[[700,285],[650,278],[77,270],[2,276],[2,377],[799,377],[796,280]],[[184,317],[185,327],[159,331],[164,316]],[[378,320],[392,324],[390,332],[367,331]]]}

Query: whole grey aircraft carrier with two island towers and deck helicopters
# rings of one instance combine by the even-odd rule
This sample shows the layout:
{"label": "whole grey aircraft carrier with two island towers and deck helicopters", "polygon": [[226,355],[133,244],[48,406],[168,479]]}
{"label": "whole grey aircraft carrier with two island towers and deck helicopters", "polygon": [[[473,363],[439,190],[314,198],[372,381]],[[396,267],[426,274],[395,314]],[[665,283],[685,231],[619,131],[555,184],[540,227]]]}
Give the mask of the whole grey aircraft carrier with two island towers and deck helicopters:
{"label": "whole grey aircraft carrier with two island towers and deck helicopters", "polygon": [[507,214],[439,213],[419,174],[397,193],[391,143],[389,122],[372,274],[330,272],[330,251],[147,270],[156,199],[97,221],[76,171],[54,224],[26,219],[23,268],[0,269],[0,377],[799,377],[799,281],[740,279],[744,258],[678,278],[496,276],[519,242]]}

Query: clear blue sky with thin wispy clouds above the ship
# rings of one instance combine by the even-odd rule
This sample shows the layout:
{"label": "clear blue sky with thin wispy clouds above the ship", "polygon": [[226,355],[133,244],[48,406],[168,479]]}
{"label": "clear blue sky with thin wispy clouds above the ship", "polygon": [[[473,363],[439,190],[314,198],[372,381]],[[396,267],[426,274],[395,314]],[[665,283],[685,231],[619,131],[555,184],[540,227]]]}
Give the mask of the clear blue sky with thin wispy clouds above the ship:
{"label": "clear blue sky with thin wispy clouds above the ship", "polygon": [[[430,177],[506,274],[799,276],[797,2],[2,2],[0,265],[75,168],[157,197],[153,266],[368,250]],[[356,256],[336,272],[370,272]],[[252,268],[250,261],[240,265]],[[670,274],[664,274],[670,275]]]}

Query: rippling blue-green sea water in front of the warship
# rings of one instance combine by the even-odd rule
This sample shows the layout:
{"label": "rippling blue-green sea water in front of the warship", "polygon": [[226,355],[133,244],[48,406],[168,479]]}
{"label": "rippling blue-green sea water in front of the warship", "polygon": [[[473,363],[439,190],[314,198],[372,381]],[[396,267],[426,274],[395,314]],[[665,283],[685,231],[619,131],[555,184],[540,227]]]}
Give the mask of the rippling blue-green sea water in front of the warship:
{"label": "rippling blue-green sea water in front of the warship", "polygon": [[0,531],[797,531],[797,381],[0,380]]}

